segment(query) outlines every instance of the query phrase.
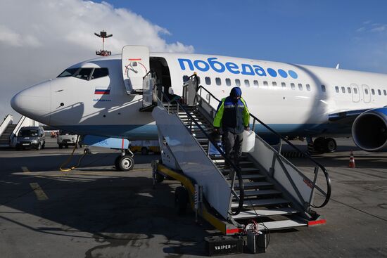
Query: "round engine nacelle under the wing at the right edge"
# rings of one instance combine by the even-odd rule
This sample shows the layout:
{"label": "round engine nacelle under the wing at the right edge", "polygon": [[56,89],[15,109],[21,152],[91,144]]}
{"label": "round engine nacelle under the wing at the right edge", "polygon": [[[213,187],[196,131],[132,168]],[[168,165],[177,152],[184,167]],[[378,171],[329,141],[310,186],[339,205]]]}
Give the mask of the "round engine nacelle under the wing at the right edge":
{"label": "round engine nacelle under the wing at the right edge", "polygon": [[387,108],[376,108],[360,114],[353,122],[352,136],[362,150],[387,150]]}

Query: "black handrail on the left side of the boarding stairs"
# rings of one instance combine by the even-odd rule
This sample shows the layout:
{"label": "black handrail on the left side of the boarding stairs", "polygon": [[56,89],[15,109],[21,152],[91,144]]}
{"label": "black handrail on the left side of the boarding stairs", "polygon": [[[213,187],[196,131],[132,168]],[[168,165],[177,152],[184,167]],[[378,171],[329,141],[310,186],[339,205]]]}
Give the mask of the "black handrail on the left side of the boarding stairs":
{"label": "black handrail on the left side of the boarding stairs", "polygon": [[[192,76],[196,76],[196,75],[192,75]],[[191,77],[189,77],[189,78],[191,78]],[[163,86],[161,86],[160,84],[155,84],[155,86],[156,86],[156,89],[158,91],[160,91],[160,93],[161,93],[161,99],[158,98],[158,93],[156,94],[158,101],[160,101],[160,105],[163,105],[163,98],[165,98],[165,100],[167,101],[167,112],[168,112],[168,114],[170,114],[170,103],[171,103],[170,98],[168,98],[167,94],[165,94],[163,92]],[[203,127],[201,127],[201,125],[198,124],[198,122],[196,122],[194,117],[192,117],[192,115],[186,110],[186,108],[184,108],[182,103],[179,103],[179,101],[174,101],[174,102],[177,103],[177,114],[179,113],[179,108],[181,108],[186,113],[186,115],[191,119],[191,121],[196,124],[196,127],[198,127],[198,129],[201,130],[201,132],[205,135],[205,137],[208,138],[208,141],[210,141],[210,143],[212,143],[212,145],[217,149],[217,151],[220,153],[220,155],[222,155],[222,157],[224,157],[224,161],[228,162],[229,165],[231,165],[232,169],[234,169],[235,173],[233,173],[234,176],[232,176],[231,187],[230,188],[231,188],[231,193],[238,200],[238,208],[234,212],[229,212],[229,213],[231,215],[239,214],[239,212],[241,212],[241,210],[243,209],[243,200],[244,200],[244,186],[243,186],[243,179],[242,179],[241,169],[239,169],[239,167],[236,167],[236,165],[234,165],[234,162],[231,162],[231,160],[224,154],[223,150],[221,148],[219,148],[219,146],[217,146],[215,141],[213,141],[212,137],[210,137],[205,132]],[[186,128],[186,129],[188,130],[188,128]],[[210,145],[208,145],[208,148],[210,148]],[[235,176],[238,177],[239,195],[234,190]]]}

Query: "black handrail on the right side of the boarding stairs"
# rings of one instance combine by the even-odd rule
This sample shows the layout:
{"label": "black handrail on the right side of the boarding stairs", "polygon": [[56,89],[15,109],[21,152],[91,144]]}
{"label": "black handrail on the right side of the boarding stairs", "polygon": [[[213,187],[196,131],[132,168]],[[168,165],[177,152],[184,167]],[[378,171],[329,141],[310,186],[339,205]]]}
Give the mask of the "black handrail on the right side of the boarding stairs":
{"label": "black handrail on the right side of the boarding stairs", "polygon": [[[200,93],[199,93],[199,96],[201,96],[201,90],[204,90],[206,91],[208,94],[210,94],[210,96],[212,98],[215,98],[216,101],[220,102],[220,99],[215,97],[214,94],[212,94],[210,91],[208,91],[208,89],[205,89],[205,87],[203,87],[202,85],[199,85],[198,86],[198,91],[200,90]],[[197,91],[197,92],[198,92]],[[208,104],[210,104],[210,99],[208,100]],[[277,133],[277,131],[274,131],[274,129],[272,129],[271,127],[269,127],[267,124],[265,124],[264,122],[262,122],[261,120],[258,119],[258,117],[255,117],[255,115],[252,115],[250,114],[250,117],[253,117],[253,128],[252,130],[254,131],[255,129],[255,121],[259,122],[260,124],[262,124],[262,126],[266,127],[266,129],[268,129],[269,131],[271,131],[273,134],[275,134],[276,136],[278,136],[279,138],[281,138],[282,141],[285,141],[286,143],[288,143],[289,146],[291,146],[291,148],[295,149],[298,153],[301,153],[304,157],[307,157],[310,161],[312,161],[313,163],[315,163],[315,178],[313,179],[312,181],[312,193],[315,189],[317,189],[317,191],[319,191],[320,193],[322,193],[322,195],[325,196],[325,200],[324,202],[322,202],[322,205],[312,205],[310,202],[311,202],[311,199],[312,199],[312,194],[310,195],[310,200],[309,200],[309,206],[310,207],[314,207],[314,208],[322,208],[324,207],[328,202],[329,202],[329,199],[331,198],[331,179],[329,177],[329,174],[328,172],[326,171],[325,167],[323,165],[321,165],[319,162],[317,162],[317,160],[315,160],[314,158],[312,158],[310,156],[309,153],[306,153],[306,152],[303,152],[302,150],[300,150],[298,147],[294,146],[293,143],[291,143],[290,141],[288,141],[287,138],[285,138],[284,136],[282,136],[281,134]],[[278,153],[280,156],[281,153]],[[325,177],[325,180],[326,180],[326,193],[324,191],[322,191],[321,188],[319,188],[319,186],[317,186],[317,174],[319,172],[319,168],[322,170],[322,172],[324,173],[324,177]],[[302,172],[298,171],[300,174],[302,174],[303,176],[305,176],[305,174],[303,174]],[[305,176],[307,177],[307,176]]]}

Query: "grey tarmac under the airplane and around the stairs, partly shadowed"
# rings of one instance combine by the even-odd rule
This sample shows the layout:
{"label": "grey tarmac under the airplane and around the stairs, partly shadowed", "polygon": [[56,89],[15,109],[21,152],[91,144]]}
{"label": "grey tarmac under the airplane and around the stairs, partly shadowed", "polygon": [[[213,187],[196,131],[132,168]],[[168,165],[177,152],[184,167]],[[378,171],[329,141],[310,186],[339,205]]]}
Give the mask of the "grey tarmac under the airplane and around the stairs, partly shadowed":
{"label": "grey tarmac under the airplane and around the stairs, partly shadowed", "polygon": [[[0,150],[0,257],[206,257],[203,238],[219,233],[196,224],[193,212],[177,215],[179,183],[152,188],[151,161],[159,155],[136,155],[134,170],[118,172],[117,150],[91,150],[70,172],[58,168],[72,149],[58,149],[53,138],[44,150]],[[78,148],[65,167],[81,155]],[[317,209],[326,224],[273,231],[265,254],[227,257],[387,257],[387,154],[343,138],[335,153],[315,159],[331,177],[331,200]],[[304,158],[289,160],[313,169]]]}

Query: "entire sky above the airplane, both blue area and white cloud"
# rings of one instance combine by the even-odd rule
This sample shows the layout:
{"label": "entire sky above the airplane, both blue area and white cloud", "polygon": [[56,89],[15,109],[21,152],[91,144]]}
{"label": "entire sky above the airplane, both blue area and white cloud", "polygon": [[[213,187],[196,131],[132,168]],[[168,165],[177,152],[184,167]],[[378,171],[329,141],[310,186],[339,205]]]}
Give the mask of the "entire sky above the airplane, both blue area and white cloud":
{"label": "entire sky above the airplane, both blue area and white cloud", "polygon": [[[12,96],[127,44],[387,73],[387,1],[2,0],[0,113]],[[26,58],[27,57],[27,58]],[[23,63],[23,69],[20,69]],[[15,71],[18,71],[17,76]],[[1,115],[1,114],[0,114]]]}

